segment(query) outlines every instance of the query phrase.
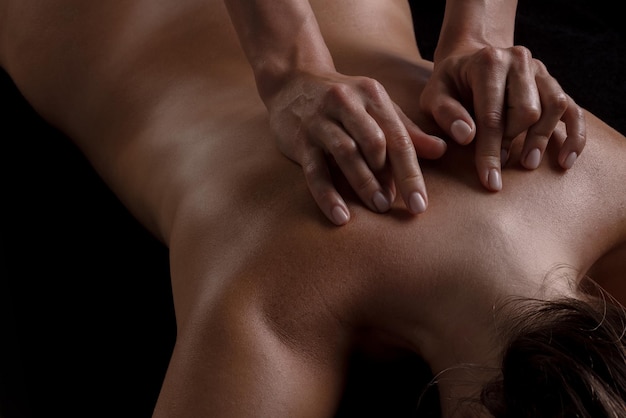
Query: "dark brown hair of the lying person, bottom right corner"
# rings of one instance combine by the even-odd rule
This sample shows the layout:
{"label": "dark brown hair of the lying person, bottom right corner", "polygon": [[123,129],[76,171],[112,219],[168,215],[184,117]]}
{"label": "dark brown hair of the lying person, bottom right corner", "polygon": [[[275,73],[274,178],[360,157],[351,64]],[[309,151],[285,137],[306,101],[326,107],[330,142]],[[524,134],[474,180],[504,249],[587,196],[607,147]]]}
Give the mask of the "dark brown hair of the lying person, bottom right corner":
{"label": "dark brown hair of the lying person, bottom right corner", "polygon": [[518,302],[480,403],[495,418],[626,417],[624,308],[604,293]]}

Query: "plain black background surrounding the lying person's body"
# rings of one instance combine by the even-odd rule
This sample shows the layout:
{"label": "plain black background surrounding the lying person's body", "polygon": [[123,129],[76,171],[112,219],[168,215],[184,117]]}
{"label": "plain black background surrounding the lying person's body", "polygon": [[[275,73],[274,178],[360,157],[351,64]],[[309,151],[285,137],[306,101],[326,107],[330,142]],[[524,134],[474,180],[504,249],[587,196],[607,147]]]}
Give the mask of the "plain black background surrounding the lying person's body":
{"label": "plain black background surrounding the lying person's body", "polygon": [[[432,57],[444,2],[410,3]],[[516,42],[626,134],[618,5],[520,0]],[[0,106],[0,417],[150,417],[175,335],[167,250],[3,72]],[[411,416],[420,370],[357,357],[339,415]]]}

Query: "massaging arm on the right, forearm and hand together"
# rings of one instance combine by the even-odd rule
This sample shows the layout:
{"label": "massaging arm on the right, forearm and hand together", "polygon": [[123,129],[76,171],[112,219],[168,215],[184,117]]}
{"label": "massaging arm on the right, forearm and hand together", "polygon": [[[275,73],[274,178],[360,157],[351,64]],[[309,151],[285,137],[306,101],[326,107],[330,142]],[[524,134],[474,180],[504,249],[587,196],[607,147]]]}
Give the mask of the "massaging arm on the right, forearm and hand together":
{"label": "massaging arm on the right, forearm and hand together", "polygon": [[433,77],[421,97],[450,137],[461,144],[476,140],[478,175],[492,191],[502,187],[501,166],[524,131],[528,169],[539,166],[559,121],[568,133],[561,167],[570,168],[585,145],[582,109],[528,49],[514,45],[516,9],[515,0],[448,0]]}

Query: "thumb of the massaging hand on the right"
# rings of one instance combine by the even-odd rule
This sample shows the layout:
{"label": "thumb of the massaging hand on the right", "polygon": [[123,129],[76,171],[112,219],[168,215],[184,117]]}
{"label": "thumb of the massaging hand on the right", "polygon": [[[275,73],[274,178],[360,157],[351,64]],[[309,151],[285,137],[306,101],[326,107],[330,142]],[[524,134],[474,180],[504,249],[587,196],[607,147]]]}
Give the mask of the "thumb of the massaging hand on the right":
{"label": "thumb of the massaging hand on the right", "polygon": [[427,84],[420,96],[420,107],[431,114],[437,125],[461,145],[472,142],[476,125],[471,115],[444,85],[443,82]]}

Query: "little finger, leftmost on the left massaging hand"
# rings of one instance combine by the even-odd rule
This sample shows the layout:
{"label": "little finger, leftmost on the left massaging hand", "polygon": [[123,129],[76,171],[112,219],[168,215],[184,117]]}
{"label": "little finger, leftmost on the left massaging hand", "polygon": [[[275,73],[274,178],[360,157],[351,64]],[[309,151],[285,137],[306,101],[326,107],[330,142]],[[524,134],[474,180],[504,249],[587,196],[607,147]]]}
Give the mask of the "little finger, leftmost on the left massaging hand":
{"label": "little finger, leftmost on the left massaging hand", "polygon": [[309,191],[324,215],[335,225],[348,223],[350,211],[332,182],[323,150],[311,148],[301,165]]}

